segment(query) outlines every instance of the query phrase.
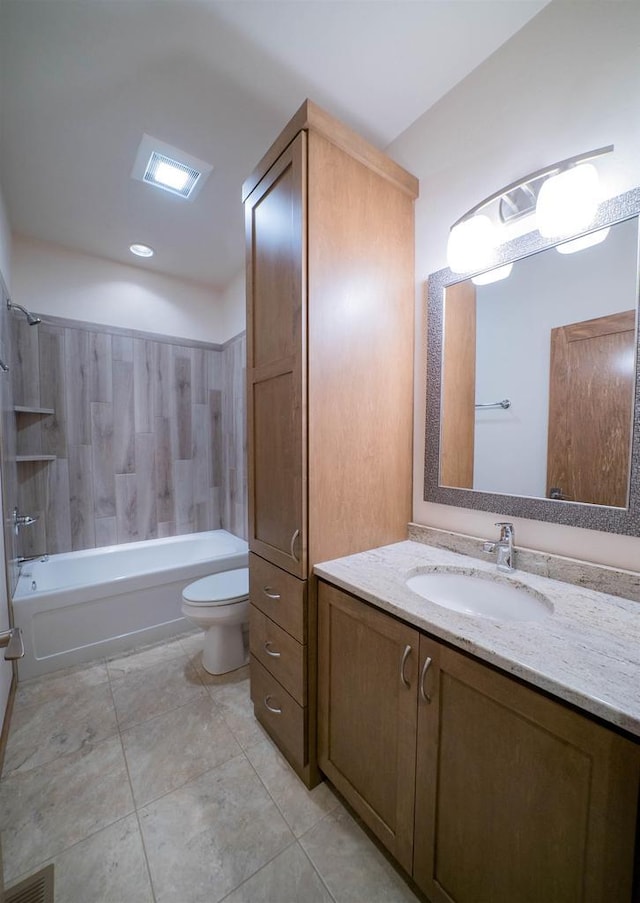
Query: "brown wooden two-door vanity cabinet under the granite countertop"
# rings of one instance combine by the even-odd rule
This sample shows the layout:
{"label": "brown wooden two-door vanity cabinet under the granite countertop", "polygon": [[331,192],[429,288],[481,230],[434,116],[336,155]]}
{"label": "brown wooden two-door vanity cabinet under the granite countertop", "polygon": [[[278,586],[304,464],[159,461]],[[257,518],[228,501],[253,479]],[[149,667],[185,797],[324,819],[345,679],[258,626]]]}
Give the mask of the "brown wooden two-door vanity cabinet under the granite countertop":
{"label": "brown wooden two-door vanity cabinet under the granite countertop", "polygon": [[637,899],[638,744],[323,581],[318,609],[320,768],[432,903]]}

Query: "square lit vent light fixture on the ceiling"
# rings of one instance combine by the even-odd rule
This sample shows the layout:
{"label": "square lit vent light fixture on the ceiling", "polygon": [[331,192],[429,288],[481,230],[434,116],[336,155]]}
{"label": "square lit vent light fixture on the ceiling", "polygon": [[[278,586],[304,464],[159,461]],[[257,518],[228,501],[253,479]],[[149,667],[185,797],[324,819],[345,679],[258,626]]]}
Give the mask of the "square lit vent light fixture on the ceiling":
{"label": "square lit vent light fixture on the ceiling", "polygon": [[212,169],[208,163],[185,154],[177,147],[171,147],[151,135],[143,135],[131,177],[193,200]]}

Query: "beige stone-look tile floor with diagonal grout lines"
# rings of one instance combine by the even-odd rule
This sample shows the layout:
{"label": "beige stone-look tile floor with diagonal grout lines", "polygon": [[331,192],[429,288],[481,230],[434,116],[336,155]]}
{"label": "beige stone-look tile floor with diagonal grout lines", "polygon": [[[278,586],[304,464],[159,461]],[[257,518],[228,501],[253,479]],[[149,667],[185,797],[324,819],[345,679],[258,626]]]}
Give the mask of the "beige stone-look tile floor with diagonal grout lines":
{"label": "beige stone-look tile floor with diagonal grout lines", "polygon": [[22,683],[0,780],[7,887],[56,903],[407,903],[416,897],[253,717],[201,633]]}

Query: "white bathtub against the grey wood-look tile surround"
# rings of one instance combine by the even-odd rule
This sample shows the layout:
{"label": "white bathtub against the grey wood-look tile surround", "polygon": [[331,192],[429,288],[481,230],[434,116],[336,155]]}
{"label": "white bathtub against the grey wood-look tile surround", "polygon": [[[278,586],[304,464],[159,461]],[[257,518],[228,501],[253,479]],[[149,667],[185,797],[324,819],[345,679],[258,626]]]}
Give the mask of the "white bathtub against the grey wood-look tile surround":
{"label": "white bathtub against the grey wood-look tile surround", "polygon": [[247,561],[243,539],[211,530],[26,562],[13,596],[20,680],[187,630],[183,588]]}

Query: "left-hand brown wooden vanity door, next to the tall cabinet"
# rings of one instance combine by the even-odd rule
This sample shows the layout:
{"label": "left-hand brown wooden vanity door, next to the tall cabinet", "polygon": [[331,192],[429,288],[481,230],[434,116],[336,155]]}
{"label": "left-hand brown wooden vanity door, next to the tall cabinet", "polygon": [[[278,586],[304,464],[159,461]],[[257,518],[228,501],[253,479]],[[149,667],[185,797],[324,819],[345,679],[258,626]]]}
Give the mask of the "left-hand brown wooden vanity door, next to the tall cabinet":
{"label": "left-hand brown wooden vanity door, next to the tall cabinet", "polygon": [[318,585],[318,763],[411,871],[418,633]]}

